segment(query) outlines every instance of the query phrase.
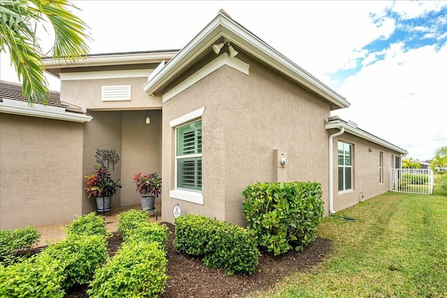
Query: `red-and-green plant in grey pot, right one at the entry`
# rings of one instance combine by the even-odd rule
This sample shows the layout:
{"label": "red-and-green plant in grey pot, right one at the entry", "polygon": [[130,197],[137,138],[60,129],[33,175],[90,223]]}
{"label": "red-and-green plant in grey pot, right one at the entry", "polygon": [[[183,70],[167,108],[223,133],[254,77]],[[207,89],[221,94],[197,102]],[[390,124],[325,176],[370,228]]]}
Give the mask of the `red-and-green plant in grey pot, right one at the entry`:
{"label": "red-and-green plant in grey pot, right one at the entry", "polygon": [[138,173],[132,177],[136,185],[136,191],[141,195],[141,207],[143,210],[153,210],[155,198],[161,193],[161,177],[156,172],[152,174]]}

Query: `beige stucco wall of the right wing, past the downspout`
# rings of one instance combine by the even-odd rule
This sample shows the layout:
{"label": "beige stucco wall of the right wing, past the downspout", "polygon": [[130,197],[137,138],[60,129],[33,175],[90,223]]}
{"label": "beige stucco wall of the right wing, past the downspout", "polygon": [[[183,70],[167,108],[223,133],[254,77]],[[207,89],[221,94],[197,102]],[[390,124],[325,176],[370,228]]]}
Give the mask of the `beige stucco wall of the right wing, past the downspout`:
{"label": "beige stucco wall of the right wing, past the downspout", "polygon": [[[332,130],[330,133],[336,133]],[[334,175],[334,210],[339,211],[351,207],[360,202],[360,192],[363,192],[363,199],[367,200],[381,193],[385,193],[390,188],[390,172],[393,167],[391,156],[400,156],[399,153],[363,140],[355,135],[344,133],[333,140],[333,175]],[[351,191],[338,191],[338,162],[337,144],[338,141],[353,144],[353,189]],[[369,150],[371,149],[371,151]],[[379,153],[383,152],[383,183],[379,180]]]}

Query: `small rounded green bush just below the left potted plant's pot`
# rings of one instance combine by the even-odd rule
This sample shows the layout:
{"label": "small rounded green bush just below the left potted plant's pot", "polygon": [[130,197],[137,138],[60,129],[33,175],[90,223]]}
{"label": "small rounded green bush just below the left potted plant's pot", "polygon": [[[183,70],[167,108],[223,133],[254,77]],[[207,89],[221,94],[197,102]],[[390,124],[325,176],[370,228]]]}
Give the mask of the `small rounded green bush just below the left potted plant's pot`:
{"label": "small rounded green bush just below the left potted plant's pot", "polygon": [[71,225],[66,228],[68,235],[91,236],[91,235],[107,235],[105,221],[101,216],[96,216],[95,212],[91,212],[85,216],[78,216]]}

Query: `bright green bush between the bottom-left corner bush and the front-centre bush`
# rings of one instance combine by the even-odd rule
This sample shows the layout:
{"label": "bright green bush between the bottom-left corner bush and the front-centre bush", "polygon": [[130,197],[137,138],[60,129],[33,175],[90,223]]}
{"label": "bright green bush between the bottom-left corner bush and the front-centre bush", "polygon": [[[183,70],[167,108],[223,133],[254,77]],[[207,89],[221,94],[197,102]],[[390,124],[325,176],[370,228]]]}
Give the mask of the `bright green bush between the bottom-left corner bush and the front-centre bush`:
{"label": "bright green bush between the bottom-left corner bush and the front-centre bush", "polygon": [[69,288],[91,280],[94,271],[108,258],[107,241],[103,235],[71,235],[48,246],[40,255],[59,262],[65,277],[62,286]]}

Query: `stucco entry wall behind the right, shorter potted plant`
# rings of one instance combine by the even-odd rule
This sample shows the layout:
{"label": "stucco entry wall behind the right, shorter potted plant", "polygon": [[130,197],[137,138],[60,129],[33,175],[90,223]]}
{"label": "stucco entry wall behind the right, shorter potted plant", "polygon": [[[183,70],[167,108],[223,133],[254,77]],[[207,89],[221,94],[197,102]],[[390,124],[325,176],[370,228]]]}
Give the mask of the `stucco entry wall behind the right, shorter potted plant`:
{"label": "stucco entry wall behind the right, shorter potted plant", "polygon": [[149,112],[150,124],[145,123],[146,115],[146,111],[122,114],[122,206],[140,204],[140,194],[135,191],[132,180],[134,174],[158,172],[161,175],[161,110]]}

